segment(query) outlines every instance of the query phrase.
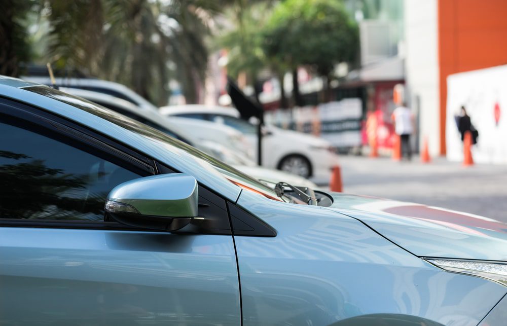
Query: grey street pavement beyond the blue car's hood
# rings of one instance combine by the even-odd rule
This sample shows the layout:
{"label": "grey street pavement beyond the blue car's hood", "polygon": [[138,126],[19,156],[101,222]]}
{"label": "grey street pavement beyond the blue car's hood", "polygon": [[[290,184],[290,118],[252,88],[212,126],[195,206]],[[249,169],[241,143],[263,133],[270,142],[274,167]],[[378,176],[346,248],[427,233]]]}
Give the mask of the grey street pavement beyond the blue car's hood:
{"label": "grey street pavement beyond the blue car's hood", "polygon": [[341,156],[343,191],[439,206],[507,223],[507,166],[436,158],[422,164],[389,158]]}

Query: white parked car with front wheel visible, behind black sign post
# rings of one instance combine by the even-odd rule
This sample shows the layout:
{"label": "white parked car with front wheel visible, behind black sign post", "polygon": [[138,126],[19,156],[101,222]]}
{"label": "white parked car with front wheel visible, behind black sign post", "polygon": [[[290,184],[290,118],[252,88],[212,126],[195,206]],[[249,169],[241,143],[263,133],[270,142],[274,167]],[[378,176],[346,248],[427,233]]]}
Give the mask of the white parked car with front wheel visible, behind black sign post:
{"label": "white parked car with front wheel visible, behind black sign post", "polygon": [[[231,126],[245,135],[257,149],[257,127],[239,118],[234,108],[206,105],[177,105],[160,108],[164,116],[214,121]],[[316,182],[328,182],[338,156],[331,143],[313,135],[265,126],[262,165],[279,169]],[[255,152],[255,151],[254,151]]]}

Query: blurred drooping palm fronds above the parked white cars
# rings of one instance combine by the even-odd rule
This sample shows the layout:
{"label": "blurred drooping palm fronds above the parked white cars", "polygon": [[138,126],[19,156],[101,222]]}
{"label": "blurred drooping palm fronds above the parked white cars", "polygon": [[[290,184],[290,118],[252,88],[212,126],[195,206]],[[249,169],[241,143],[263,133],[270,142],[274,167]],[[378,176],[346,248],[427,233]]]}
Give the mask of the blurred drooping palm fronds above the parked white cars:
{"label": "blurred drooping palm fronds above the parked white cars", "polygon": [[174,77],[198,100],[207,66],[205,37],[229,1],[47,0],[51,61],[126,84],[158,105]]}

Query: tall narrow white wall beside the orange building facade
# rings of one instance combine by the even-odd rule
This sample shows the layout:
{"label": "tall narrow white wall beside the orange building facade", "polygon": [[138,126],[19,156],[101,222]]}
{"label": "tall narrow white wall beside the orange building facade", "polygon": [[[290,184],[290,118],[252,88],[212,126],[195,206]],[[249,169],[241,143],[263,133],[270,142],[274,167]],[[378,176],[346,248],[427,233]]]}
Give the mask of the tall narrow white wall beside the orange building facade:
{"label": "tall narrow white wall beside the orange building facade", "polygon": [[438,0],[405,0],[405,74],[407,102],[415,110],[420,98],[420,146],[428,137],[429,153],[439,154]]}

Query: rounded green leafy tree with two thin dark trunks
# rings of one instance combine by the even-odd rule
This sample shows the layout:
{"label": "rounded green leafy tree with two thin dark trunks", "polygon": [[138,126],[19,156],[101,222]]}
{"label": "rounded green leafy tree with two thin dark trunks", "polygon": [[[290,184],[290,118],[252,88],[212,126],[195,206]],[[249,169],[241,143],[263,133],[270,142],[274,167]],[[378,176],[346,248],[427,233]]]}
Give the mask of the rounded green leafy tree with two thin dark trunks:
{"label": "rounded green leafy tree with two thin dark trunks", "polygon": [[[264,49],[267,56],[288,65],[293,74],[301,65],[314,70],[325,79],[325,92],[330,89],[336,64],[357,58],[358,39],[357,25],[341,1],[285,0],[275,7],[266,25]],[[297,76],[293,82],[297,84]],[[293,89],[298,92],[298,85]],[[295,98],[301,99],[299,94]]]}

